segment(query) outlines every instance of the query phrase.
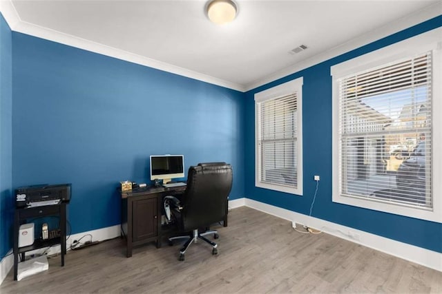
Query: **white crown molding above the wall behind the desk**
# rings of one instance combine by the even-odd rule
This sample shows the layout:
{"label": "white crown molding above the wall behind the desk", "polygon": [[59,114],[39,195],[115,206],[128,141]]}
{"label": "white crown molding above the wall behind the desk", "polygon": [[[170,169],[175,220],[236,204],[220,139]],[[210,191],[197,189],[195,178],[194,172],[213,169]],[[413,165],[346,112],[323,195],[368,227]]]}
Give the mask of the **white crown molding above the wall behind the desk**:
{"label": "white crown molding above the wall behind the desk", "polygon": [[127,52],[124,50],[119,50],[108,45],[101,43],[89,41],[86,39],[79,38],[70,34],[65,34],[58,32],[56,30],[51,30],[48,28],[41,27],[26,21],[22,21],[15,10],[14,5],[10,0],[0,0],[0,12],[6,19],[6,22],[10,26],[11,30],[14,32],[21,32],[23,34],[28,34],[30,36],[37,36],[41,39],[46,39],[48,41],[53,41],[61,43],[64,45],[69,45],[82,50],[106,55],[113,57],[115,59],[121,59],[123,61],[128,61],[131,63],[137,63],[140,65],[145,65],[147,67],[152,67],[157,70],[162,70],[164,72],[170,72],[172,74],[177,74],[180,76],[185,76],[187,78],[193,78],[198,81],[203,81],[206,83],[211,83],[213,85],[218,85],[221,87],[227,87],[232,90],[237,90],[244,92],[244,85],[237,83],[231,83],[229,81],[224,81],[220,78],[215,78],[206,74],[201,74],[200,72],[194,72],[192,70],[187,70],[183,67],[178,67],[171,65],[169,63],[164,63],[162,61],[157,61],[155,59],[149,59],[147,57]]}

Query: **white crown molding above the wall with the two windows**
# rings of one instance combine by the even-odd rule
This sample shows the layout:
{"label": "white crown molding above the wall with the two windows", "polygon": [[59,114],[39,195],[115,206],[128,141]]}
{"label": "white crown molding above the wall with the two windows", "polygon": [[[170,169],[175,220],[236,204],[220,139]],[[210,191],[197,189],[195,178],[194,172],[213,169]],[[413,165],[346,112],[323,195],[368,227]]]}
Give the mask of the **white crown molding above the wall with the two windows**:
{"label": "white crown molding above the wall with the two windows", "polygon": [[264,78],[260,78],[257,81],[250,83],[249,85],[245,85],[245,91],[250,91],[265,85],[267,83],[271,83],[273,81],[278,80],[279,78],[283,78],[285,76],[289,76],[290,74],[294,74],[299,72],[300,70],[305,70],[307,67],[311,67],[323,61],[327,61],[332,59],[333,57],[339,56],[340,54],[344,54],[345,52],[349,52],[356,48],[360,48],[363,45],[367,45],[374,41],[378,41],[386,36],[390,36],[396,32],[400,32],[401,30],[405,30],[407,28],[412,27],[413,25],[417,25],[422,23],[423,21],[427,21],[434,17],[439,17],[442,14],[442,1],[435,3],[434,5],[428,6],[423,10],[419,10],[414,14],[408,15],[407,17],[403,17],[396,21],[392,21],[387,25],[384,25],[380,28],[376,28],[366,34],[362,34],[355,39],[349,40],[342,45],[338,45],[335,48],[312,56],[309,59],[305,59],[305,61],[300,61],[294,65],[286,67],[283,70],[278,72],[274,72],[269,76],[265,76]]}

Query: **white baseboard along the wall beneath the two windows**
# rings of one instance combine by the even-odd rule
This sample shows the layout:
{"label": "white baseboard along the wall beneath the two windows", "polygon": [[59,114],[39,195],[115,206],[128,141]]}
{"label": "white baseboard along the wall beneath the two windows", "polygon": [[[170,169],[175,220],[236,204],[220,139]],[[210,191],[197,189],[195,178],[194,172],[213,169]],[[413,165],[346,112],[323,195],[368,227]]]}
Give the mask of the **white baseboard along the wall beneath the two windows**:
{"label": "white baseboard along the wall beneath the two windows", "polygon": [[[243,199],[243,198],[242,198]],[[327,222],[320,218],[314,218],[302,213],[296,213],[280,207],[265,204],[255,200],[244,198],[244,205],[253,209],[269,213],[272,216],[289,220],[290,222],[303,224],[313,229],[318,229],[338,238],[343,238],[363,246],[402,258],[416,264],[427,266],[436,271],[442,271],[442,253],[424,249],[418,246],[398,242],[392,239],[345,227],[334,222]]]}

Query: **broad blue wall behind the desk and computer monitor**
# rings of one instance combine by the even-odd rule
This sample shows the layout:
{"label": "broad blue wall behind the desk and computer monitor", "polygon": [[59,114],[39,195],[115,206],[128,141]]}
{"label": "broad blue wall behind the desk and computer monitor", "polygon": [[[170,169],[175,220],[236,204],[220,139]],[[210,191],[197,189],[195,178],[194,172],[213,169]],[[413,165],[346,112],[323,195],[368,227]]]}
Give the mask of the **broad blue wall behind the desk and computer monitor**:
{"label": "broad blue wall behind the desk and computer monitor", "polygon": [[[120,223],[120,180],[151,154],[225,161],[244,197],[244,93],[12,33],[13,187],[73,184],[73,233]],[[3,240],[2,240],[3,241]]]}

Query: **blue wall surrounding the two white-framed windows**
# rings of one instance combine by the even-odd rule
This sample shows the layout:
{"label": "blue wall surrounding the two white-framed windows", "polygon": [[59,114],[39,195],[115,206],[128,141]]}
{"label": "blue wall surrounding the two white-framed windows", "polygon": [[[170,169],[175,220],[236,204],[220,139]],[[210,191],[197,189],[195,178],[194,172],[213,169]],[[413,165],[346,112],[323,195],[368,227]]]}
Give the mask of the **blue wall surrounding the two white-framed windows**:
{"label": "blue wall surrounding the two white-framed windows", "polygon": [[[365,45],[362,48],[336,56],[333,59],[247,92],[244,132],[246,134],[245,191],[247,198],[308,215],[316,188],[316,182],[314,182],[313,177],[318,174],[321,180],[312,216],[432,251],[442,252],[442,224],[440,223],[396,216],[390,213],[360,209],[332,202],[333,130],[332,78],[330,76],[330,67],[332,65],[440,26],[442,26],[442,16],[425,21],[412,28]],[[302,197],[256,188],[254,180],[254,94],[300,76],[304,77],[302,92],[304,196]]]}

